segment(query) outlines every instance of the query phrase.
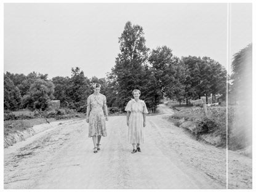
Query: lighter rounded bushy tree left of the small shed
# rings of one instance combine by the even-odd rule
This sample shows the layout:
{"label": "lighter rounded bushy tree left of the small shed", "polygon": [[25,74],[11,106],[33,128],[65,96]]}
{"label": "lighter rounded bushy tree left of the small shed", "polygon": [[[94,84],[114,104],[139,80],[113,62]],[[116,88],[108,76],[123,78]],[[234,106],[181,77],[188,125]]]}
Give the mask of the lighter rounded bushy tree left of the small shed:
{"label": "lighter rounded bushy tree left of the small shed", "polygon": [[29,93],[23,97],[23,105],[30,110],[47,110],[54,98],[54,84],[44,79],[36,79],[30,86]]}

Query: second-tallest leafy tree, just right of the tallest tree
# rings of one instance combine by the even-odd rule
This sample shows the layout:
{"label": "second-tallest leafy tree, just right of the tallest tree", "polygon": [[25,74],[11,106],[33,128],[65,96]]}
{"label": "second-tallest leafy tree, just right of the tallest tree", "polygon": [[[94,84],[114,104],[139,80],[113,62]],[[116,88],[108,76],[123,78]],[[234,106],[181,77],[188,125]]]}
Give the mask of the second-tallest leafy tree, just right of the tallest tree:
{"label": "second-tallest leafy tree, just right of the tallest tree", "polygon": [[[153,49],[149,59],[152,77],[151,89],[154,89],[154,106],[159,104],[163,96],[183,100],[185,86],[185,65],[178,57],[172,56],[172,50],[167,46]],[[154,84],[154,87],[152,87]],[[151,91],[152,92],[152,91]]]}

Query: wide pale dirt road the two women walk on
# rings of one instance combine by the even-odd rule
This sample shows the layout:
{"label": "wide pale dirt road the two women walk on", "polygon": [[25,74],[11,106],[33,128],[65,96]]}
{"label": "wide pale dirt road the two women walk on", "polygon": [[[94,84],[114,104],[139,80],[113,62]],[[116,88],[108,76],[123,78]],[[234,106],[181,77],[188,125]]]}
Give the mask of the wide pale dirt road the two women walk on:
{"label": "wide pale dirt road the two women walk on", "polygon": [[[148,116],[141,153],[130,153],[125,116],[110,117],[106,125],[108,136],[96,154],[85,120],[59,124],[4,149],[4,188],[226,188],[225,150],[194,140],[164,114]],[[251,186],[251,159],[236,155],[234,168],[242,172],[233,174],[230,188]],[[246,179],[239,182],[242,173]]]}

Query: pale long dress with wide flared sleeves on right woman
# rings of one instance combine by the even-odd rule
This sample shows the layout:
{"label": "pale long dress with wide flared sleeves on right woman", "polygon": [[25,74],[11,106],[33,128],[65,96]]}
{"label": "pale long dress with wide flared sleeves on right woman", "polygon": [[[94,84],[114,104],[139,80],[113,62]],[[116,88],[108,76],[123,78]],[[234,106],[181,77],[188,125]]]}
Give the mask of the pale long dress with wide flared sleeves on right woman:
{"label": "pale long dress with wide flared sleeves on right woman", "polygon": [[128,142],[144,143],[143,113],[147,114],[148,109],[143,100],[135,101],[132,98],[126,105],[125,111],[130,111]]}

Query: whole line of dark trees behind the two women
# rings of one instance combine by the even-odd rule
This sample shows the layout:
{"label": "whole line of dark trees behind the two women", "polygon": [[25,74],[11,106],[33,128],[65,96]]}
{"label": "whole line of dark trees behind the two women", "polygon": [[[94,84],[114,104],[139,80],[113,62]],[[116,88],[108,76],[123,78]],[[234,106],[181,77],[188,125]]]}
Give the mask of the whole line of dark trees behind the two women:
{"label": "whole line of dark trees behind the two women", "polygon": [[119,54],[106,78],[87,78],[80,68],[71,69],[71,78],[47,74],[4,74],[4,110],[47,110],[50,100],[60,100],[61,106],[86,112],[90,84],[102,85],[107,105],[123,111],[132,98],[132,90],[140,89],[141,99],[151,111],[163,97],[182,102],[202,96],[226,94],[226,70],[210,57],[178,58],[172,49],[146,47],[143,28],[127,22],[119,37]]}

